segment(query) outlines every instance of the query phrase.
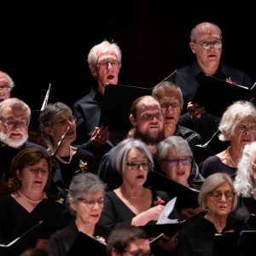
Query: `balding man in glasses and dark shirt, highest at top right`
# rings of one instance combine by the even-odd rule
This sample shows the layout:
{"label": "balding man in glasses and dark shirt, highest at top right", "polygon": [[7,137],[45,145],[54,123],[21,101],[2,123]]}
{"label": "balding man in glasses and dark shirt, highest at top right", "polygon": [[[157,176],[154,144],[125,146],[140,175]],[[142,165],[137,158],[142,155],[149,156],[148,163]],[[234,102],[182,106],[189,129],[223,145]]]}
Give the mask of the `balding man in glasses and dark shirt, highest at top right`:
{"label": "balding man in glasses and dark shirt, highest at top right", "polygon": [[[214,132],[218,131],[219,117],[207,113],[204,106],[193,102],[196,91],[203,84],[205,74],[247,87],[252,85],[252,81],[246,73],[221,62],[222,32],[216,24],[202,22],[196,25],[190,33],[189,47],[195,55],[195,62],[178,69],[177,73],[167,80],[177,84],[183,92],[183,112],[179,123],[197,131],[203,143],[207,143]],[[218,108],[218,99],[216,99],[216,108]],[[220,147],[220,145],[217,146]],[[226,145],[223,147],[225,148]],[[215,151],[212,154],[221,151],[221,148],[216,148]]]}

